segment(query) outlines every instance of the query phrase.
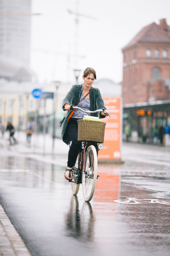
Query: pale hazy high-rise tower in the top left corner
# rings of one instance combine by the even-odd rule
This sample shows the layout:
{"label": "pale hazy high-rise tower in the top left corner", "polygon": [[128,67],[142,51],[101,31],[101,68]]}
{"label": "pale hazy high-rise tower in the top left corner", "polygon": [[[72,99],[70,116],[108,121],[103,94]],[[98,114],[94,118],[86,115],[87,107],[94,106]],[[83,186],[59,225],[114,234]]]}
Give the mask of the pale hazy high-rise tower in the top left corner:
{"label": "pale hazy high-rise tower in the top left corner", "polygon": [[0,0],[0,55],[30,62],[31,0]]}

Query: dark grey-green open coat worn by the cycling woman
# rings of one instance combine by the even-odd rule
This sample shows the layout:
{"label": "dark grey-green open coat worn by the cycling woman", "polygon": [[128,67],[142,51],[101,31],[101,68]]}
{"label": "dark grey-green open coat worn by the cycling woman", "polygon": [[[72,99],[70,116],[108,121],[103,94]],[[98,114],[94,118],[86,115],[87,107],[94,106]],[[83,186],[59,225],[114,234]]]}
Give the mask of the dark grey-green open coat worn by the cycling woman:
{"label": "dark grey-green open coat worn by the cycling woman", "polygon": [[[83,89],[83,84],[80,85],[73,85],[72,88],[69,90],[68,94],[64,98],[62,102],[62,107],[64,109],[65,104],[69,105],[77,105],[77,103],[80,101],[81,92]],[[92,86],[90,90],[92,89]],[[104,101],[102,99],[102,96],[100,94],[100,90],[98,88],[93,88],[90,92],[90,110],[95,111],[97,109],[106,109],[104,105]],[[62,139],[63,141],[68,145],[70,143],[70,140],[67,136],[66,127],[68,124],[68,117],[70,115],[70,111],[67,111],[66,116],[63,118],[63,120],[60,122],[60,126],[62,126]],[[104,118],[105,116],[102,116],[99,112],[98,113],[92,113],[92,116],[97,116],[99,118]]]}

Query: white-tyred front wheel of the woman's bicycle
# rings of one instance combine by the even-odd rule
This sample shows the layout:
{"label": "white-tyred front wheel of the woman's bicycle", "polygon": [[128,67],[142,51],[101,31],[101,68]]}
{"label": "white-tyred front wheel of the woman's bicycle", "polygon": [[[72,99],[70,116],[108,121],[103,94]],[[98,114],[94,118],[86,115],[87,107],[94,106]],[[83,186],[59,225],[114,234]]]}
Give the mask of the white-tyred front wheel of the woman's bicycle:
{"label": "white-tyred front wheel of the woman's bicycle", "polygon": [[84,200],[89,202],[96,188],[97,181],[97,152],[94,145],[87,148],[85,157],[85,170],[83,170],[82,185]]}

